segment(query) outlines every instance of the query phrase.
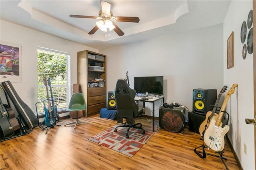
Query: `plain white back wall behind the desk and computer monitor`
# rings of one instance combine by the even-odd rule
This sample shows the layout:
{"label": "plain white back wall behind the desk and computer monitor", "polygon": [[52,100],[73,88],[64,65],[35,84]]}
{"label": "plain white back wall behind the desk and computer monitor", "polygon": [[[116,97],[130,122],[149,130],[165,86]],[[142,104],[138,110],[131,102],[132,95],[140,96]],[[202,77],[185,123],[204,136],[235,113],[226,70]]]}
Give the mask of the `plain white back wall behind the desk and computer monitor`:
{"label": "plain white back wall behind the desk and computer monitor", "polygon": [[[170,33],[168,36],[100,50],[100,53],[107,55],[108,91],[114,89],[118,78],[125,78],[126,71],[132,88],[136,76],[163,75],[165,101],[178,102],[192,111],[193,89],[220,91],[223,87],[222,24]],[[146,115],[150,114],[151,111],[146,110]]]}

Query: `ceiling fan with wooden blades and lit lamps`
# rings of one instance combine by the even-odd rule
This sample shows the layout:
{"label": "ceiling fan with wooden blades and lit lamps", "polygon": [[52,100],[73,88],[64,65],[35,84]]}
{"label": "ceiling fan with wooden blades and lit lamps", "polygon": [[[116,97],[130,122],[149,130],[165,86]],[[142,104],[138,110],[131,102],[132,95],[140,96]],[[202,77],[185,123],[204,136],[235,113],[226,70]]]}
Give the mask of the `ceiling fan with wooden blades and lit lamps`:
{"label": "ceiling fan with wooden blades and lit lamps", "polygon": [[70,15],[73,18],[93,18],[99,19],[100,21],[96,22],[96,26],[88,33],[90,35],[94,34],[98,29],[107,32],[114,30],[118,36],[123,36],[124,32],[114,23],[118,22],[139,22],[138,17],[132,16],[114,16],[113,12],[110,10],[111,4],[106,1],[100,1],[101,10],[99,11],[99,16],[83,16],[83,15]]}

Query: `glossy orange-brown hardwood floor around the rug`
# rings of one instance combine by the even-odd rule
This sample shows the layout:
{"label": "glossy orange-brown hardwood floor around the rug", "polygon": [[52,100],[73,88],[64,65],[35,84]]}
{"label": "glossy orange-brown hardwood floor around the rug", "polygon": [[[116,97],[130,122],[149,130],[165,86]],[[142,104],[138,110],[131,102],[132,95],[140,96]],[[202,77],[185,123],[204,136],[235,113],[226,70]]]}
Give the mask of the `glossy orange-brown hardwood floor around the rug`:
{"label": "glossy orange-brown hardwood floor around the rug", "polygon": [[[221,159],[208,156],[199,158],[194,148],[202,145],[199,134],[193,134],[185,128],[184,134],[172,133],[156,128],[155,134],[132,157],[120,154],[105,146],[88,140],[91,136],[106,130],[116,121],[93,117],[79,118],[89,122],[88,125],[74,125],[64,127],[65,123],[74,119],[64,119],[59,127],[50,128],[45,134],[40,127],[36,127],[24,136],[19,136],[0,143],[0,169],[38,169],[38,170],[212,170],[223,169]],[[142,123],[145,130],[152,130],[152,120],[141,117],[135,119]],[[236,160],[228,143],[223,156],[230,170],[238,170]],[[206,150],[206,152],[212,152]]]}

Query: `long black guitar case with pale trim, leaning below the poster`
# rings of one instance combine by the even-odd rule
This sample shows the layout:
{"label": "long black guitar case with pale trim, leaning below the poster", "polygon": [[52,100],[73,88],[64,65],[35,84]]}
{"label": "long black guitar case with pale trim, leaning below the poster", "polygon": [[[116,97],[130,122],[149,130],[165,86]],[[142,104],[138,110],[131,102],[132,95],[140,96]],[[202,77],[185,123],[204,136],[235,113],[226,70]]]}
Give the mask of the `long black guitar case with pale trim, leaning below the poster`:
{"label": "long black guitar case with pale trim, leaning below the poster", "polygon": [[34,128],[38,126],[38,119],[34,112],[20,99],[18,93],[15,91],[12,83],[10,81],[4,81],[1,83],[4,88],[4,92],[6,93],[6,97],[8,97],[10,102],[14,105],[18,115],[21,116],[22,121],[28,129]]}

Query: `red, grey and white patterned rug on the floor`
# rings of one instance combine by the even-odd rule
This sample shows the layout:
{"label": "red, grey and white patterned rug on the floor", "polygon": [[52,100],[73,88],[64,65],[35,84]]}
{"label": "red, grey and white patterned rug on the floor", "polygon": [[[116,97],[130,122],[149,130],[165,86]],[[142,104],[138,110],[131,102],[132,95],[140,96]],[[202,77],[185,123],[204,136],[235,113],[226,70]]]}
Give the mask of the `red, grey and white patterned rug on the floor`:
{"label": "red, grey and white patterned rug on the floor", "polygon": [[90,137],[89,140],[132,157],[154,134],[152,131],[145,131],[145,134],[141,134],[142,130],[131,128],[128,134],[130,138],[127,139],[126,130],[128,127],[117,128],[117,132],[114,132],[114,129],[117,126],[119,125],[108,128],[107,130]]}

